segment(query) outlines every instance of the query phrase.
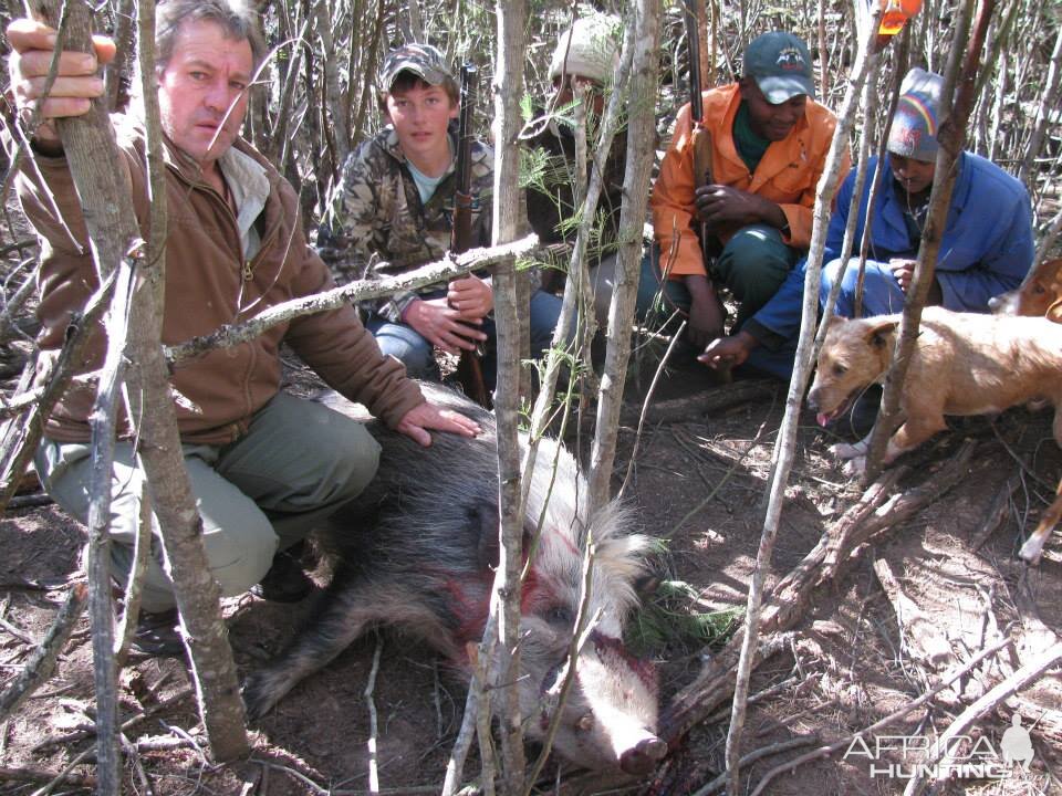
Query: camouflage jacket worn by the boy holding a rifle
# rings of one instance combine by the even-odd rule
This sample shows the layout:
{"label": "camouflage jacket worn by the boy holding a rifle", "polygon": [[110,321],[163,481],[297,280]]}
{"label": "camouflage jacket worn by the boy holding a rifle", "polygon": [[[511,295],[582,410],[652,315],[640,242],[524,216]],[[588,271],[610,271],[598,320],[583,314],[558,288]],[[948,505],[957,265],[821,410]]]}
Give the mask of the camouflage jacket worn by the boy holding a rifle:
{"label": "camouflage jacket worn by the boy holding a rifle", "polygon": [[[454,151],[457,137],[451,132]],[[472,245],[490,243],[493,151],[472,144]],[[329,200],[317,248],[333,270],[353,279],[382,279],[406,273],[442,259],[450,248],[454,221],[455,172],[451,170],[427,203],[420,201],[416,182],[392,127],[364,142],[347,157],[343,176]],[[438,290],[438,285],[419,293]],[[419,293],[402,292],[386,298],[362,302],[366,313],[377,313],[393,323]]]}

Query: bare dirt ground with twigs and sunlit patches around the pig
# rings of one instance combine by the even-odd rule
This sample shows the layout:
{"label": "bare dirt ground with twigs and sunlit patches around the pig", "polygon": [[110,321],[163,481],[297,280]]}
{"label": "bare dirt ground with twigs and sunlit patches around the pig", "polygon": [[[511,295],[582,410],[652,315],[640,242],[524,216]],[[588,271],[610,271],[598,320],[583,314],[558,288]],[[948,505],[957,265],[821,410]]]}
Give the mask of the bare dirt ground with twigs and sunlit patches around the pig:
{"label": "bare dirt ground with twigs and sunlit patches around the pig", "polygon": [[[716,385],[695,364],[671,368],[657,395],[658,406],[668,411],[649,413],[632,468],[629,492],[642,523],[653,535],[667,540],[659,574],[693,589],[693,597],[668,603],[669,610],[686,617],[740,609],[746,601],[784,388],[764,383],[729,407],[709,415],[700,408],[710,397],[718,399],[742,384]],[[639,385],[633,385],[632,399],[641,391]],[[679,419],[671,417],[676,410]],[[659,419],[663,416],[667,419]],[[975,454],[959,485],[858,549],[841,578],[814,590],[784,649],[753,672],[751,691],[762,696],[750,706],[745,750],[795,740],[809,744],[746,768],[753,787],[768,769],[811,748],[816,740],[841,740],[924,693],[939,673],[968,660],[1013,624],[1016,642],[1004,653],[939,694],[928,711],[916,710],[881,733],[933,737],[965,705],[1062,632],[1059,533],[1039,568],[1027,568],[1016,558],[1022,533],[1034,525],[1062,470],[1062,457],[1051,442],[1049,413],[1014,410],[995,420],[969,419],[955,427],[908,457],[910,473],[900,490],[946,467],[962,441],[970,439]],[[635,425],[625,425],[617,472],[626,469],[635,439]],[[814,427],[813,418],[802,417],[769,593],[770,585],[793,569],[860,496],[829,457],[832,441]],[[975,549],[989,507],[1009,479],[1018,479],[1018,486],[1002,522]],[[54,505],[8,511],[0,521],[0,687],[21,670],[69,583],[82,576],[82,528]],[[887,596],[875,562],[878,568],[887,564],[905,601]],[[226,614],[241,673],[277,653],[295,628],[312,618],[312,600],[274,605],[250,596],[229,600]],[[650,647],[662,675],[665,713],[717,648],[678,635]],[[438,792],[460,723],[464,687],[429,649],[387,632],[361,639],[281,701],[252,729],[253,753],[248,763],[238,765],[215,766],[205,756],[181,662],[154,659],[129,664],[122,673],[123,709],[134,721],[126,737],[137,742],[140,751],[126,758],[127,792],[367,793],[365,690],[377,649],[381,658],[372,700],[378,712],[381,793]],[[1028,773],[1008,771],[1004,779],[956,779],[946,792],[1062,794],[1060,706],[1062,682],[1054,670],[975,722],[968,733],[974,742],[987,739],[998,751],[1002,732],[1018,712],[1024,726],[1034,725],[1032,765]],[[83,731],[91,727],[92,713],[91,643],[83,618],[55,677],[0,725],[0,793],[43,793],[38,788],[48,783],[44,774],[27,781],[4,778],[10,776],[7,769],[60,772],[77,755],[91,755],[91,741]],[[697,793],[723,767],[728,722],[726,701],[675,744],[666,783],[605,784],[554,767],[548,769],[539,793]],[[872,772],[865,754],[842,757],[836,753],[799,765],[773,779],[763,793],[902,793],[902,768]],[[883,752],[875,765],[909,767],[915,760],[905,760],[897,751]],[[93,766],[82,762],[73,771],[91,775]],[[466,775],[475,776],[477,771],[475,760],[470,761]],[[88,789],[62,784],[51,792]]]}

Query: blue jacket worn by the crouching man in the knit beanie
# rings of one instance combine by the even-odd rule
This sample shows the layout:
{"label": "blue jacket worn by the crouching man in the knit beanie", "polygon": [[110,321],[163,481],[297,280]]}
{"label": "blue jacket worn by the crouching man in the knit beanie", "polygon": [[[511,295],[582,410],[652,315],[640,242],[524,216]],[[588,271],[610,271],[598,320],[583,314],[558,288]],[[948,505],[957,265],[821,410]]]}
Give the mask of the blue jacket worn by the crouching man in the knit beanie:
{"label": "blue jacket worn by the crouching man in the knit beanie", "polygon": [[[853,239],[856,253],[863,239],[863,219],[876,165],[877,158],[873,158],[863,186],[860,221]],[[903,205],[896,196],[887,157],[884,178],[871,224],[870,259],[914,259],[917,245],[912,244],[904,223]],[[853,169],[837,192],[823,264],[841,255],[854,186]],[[986,312],[990,297],[1018,286],[1032,264],[1032,214],[1025,187],[989,160],[962,153],[935,269],[944,306]],[[746,328],[769,347],[781,347],[782,341],[795,338],[800,332],[805,268],[806,258],[796,263],[774,297],[746,324]]]}

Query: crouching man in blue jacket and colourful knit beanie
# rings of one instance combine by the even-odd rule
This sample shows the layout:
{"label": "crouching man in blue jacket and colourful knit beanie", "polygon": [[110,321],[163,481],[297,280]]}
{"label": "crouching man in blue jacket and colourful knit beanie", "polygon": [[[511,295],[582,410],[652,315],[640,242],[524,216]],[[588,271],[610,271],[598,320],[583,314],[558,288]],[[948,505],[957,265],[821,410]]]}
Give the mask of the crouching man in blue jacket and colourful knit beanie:
{"label": "crouching man in blue jacket and colourful knit beanie", "polygon": [[[868,165],[855,228],[856,248],[863,238],[871,187],[878,179],[884,185],[870,219],[864,316],[903,310],[935,177],[943,88],[940,75],[917,67],[907,73],[893,116],[884,168],[878,169],[877,158]],[[834,281],[842,280],[835,311],[847,317],[855,308],[858,258],[842,263],[840,254],[854,189],[853,171],[836,197],[820,286],[820,302],[824,302]],[[961,312],[988,312],[988,300],[1016,287],[1029,271],[1032,256],[1032,219],[1024,186],[985,158],[961,153],[929,303]],[[758,327],[758,337],[742,329],[716,341],[701,355],[701,362],[709,366],[748,362],[788,379],[800,331],[804,271],[805,262],[799,263],[774,297],[750,318],[749,323]]]}

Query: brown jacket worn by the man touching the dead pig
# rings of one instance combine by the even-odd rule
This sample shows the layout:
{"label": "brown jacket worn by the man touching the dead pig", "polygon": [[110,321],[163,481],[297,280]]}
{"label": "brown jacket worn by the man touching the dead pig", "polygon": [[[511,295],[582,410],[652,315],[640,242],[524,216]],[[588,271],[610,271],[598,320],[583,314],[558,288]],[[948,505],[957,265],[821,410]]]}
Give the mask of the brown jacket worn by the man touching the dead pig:
{"label": "brown jacket worn by the man touching the dead pig", "polygon": [[[137,220],[148,226],[143,130],[116,116],[118,146],[132,181]],[[268,306],[334,286],[327,269],[306,244],[294,189],[249,144],[237,148],[266,168],[270,184],[266,208],[256,222],[261,250],[243,262],[236,217],[228,203],[198,176],[197,165],[167,143],[166,308],[163,342],[174,345],[209,334],[223,324],[252,317]],[[38,163],[77,241],[87,239],[70,170],[63,157]],[[23,170],[18,180],[22,207],[41,239],[39,276],[42,359],[62,346],[71,314],[96,287],[86,245],[70,239],[52,212],[42,187]],[[223,444],[237,439],[250,417],[280,389],[281,343],[345,397],[364,404],[394,427],[424,397],[398,360],[384,357],[350,305],[304,315],[269,328],[249,343],[217,349],[181,363],[173,374],[178,394],[177,422],[185,442]],[[97,331],[85,370],[102,362],[104,335]],[[74,385],[48,421],[45,434],[63,442],[90,439],[93,387]],[[127,426],[127,423],[123,423]],[[129,429],[124,428],[128,434]]]}

